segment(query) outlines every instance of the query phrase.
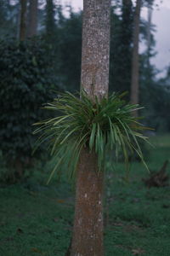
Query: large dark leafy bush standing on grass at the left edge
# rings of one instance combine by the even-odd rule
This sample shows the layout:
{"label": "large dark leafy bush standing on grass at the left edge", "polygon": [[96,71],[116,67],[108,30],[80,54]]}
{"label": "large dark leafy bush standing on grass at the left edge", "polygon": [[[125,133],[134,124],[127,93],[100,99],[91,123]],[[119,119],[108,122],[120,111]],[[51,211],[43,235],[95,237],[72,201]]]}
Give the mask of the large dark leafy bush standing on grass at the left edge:
{"label": "large dark leafy bush standing on grass at the left edge", "polygon": [[51,101],[56,79],[41,38],[0,41],[0,141],[8,163],[31,157],[31,125],[44,119],[42,103]]}

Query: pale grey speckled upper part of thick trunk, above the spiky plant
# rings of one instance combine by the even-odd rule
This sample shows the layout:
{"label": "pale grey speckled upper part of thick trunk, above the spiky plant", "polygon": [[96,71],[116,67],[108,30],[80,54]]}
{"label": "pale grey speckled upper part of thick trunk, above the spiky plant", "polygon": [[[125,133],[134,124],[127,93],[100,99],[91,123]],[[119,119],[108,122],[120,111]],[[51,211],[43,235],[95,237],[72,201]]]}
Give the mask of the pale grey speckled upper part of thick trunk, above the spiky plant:
{"label": "pale grey speckled upper part of thick trunk, above the spiky plant", "polygon": [[82,89],[107,95],[109,84],[111,0],[86,0],[82,25]]}

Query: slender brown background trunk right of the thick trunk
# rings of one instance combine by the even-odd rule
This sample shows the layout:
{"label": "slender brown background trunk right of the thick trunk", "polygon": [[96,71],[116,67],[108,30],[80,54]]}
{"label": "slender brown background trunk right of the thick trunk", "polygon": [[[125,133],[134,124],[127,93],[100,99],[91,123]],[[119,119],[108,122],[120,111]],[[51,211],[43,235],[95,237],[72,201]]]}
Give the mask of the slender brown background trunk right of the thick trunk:
{"label": "slender brown background trunk right of the thick trunk", "polygon": [[[139,103],[139,21],[140,21],[141,0],[136,0],[133,25],[133,61],[132,61],[132,84],[131,84],[131,102]],[[138,116],[138,113],[134,113]]]}

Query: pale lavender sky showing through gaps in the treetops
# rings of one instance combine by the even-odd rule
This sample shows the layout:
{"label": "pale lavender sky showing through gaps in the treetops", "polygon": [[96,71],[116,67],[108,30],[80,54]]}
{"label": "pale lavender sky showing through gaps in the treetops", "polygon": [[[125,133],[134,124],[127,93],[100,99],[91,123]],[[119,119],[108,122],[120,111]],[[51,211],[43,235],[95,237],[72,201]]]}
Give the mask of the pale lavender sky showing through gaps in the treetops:
{"label": "pale lavender sky showing through gaps in the treetops", "polygon": [[[82,0],[62,0],[62,3],[71,3],[75,11],[82,9]],[[147,17],[147,9],[143,8],[141,16]],[[154,33],[157,55],[152,63],[160,70],[170,65],[170,0],[155,0],[152,14],[152,24],[156,25]],[[142,48],[142,46],[141,46]],[[165,71],[160,73],[160,77]]]}

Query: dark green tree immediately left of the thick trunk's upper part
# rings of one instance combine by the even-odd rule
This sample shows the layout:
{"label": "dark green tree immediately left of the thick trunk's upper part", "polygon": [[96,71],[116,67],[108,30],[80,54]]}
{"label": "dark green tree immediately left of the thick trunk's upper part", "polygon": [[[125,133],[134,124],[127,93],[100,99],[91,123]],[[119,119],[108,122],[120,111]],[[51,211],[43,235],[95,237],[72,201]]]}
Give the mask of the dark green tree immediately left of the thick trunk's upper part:
{"label": "dark green tree immediately left of the thick trunk's upper part", "polygon": [[[73,13],[59,24],[60,83],[71,91],[79,90],[82,56],[82,13]],[[75,56],[77,56],[75,58]]]}

